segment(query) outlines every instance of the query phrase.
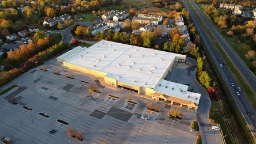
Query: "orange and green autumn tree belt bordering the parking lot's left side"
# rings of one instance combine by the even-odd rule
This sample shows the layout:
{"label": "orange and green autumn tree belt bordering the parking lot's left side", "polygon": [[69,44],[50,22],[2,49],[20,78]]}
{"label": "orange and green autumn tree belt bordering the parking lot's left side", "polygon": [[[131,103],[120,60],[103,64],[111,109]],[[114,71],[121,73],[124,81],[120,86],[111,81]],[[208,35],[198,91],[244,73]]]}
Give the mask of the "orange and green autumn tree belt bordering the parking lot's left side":
{"label": "orange and green autumn tree belt bordering the parking lot's left side", "polygon": [[42,63],[67,48],[69,46],[65,42],[55,44],[55,38],[47,37],[43,31],[35,33],[32,43],[24,44],[20,49],[5,54],[7,58],[4,65],[9,71],[0,72],[0,86],[32,69],[36,63]]}

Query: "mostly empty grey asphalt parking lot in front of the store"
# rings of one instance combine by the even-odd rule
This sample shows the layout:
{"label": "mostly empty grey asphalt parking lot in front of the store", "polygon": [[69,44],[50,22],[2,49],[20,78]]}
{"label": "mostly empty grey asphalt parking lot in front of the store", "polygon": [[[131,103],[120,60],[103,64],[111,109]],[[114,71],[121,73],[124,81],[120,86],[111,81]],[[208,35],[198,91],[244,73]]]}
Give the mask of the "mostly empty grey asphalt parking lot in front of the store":
{"label": "mostly empty grey asphalt parking lot in front of the store", "polygon": [[[193,111],[108,86],[97,87],[100,93],[89,92],[85,82],[96,84],[96,78],[46,63],[49,65],[32,69],[0,88],[2,92],[14,84],[21,86],[0,96],[1,137],[13,143],[195,143],[197,135],[190,132],[191,121],[197,119]],[[43,66],[47,71],[40,70]],[[16,105],[7,102],[14,96]],[[127,103],[128,97],[136,104]],[[148,103],[159,105],[161,111],[149,112]],[[167,119],[170,109],[182,111],[185,118]],[[141,119],[141,115],[148,120]],[[82,131],[83,141],[69,137],[69,127]],[[50,134],[53,129],[57,132]]]}

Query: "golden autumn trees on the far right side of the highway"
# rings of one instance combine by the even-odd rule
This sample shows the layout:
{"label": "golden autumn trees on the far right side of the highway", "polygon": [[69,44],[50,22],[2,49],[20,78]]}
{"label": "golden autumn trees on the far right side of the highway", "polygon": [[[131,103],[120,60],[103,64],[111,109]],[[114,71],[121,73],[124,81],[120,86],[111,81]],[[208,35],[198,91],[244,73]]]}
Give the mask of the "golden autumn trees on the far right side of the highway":
{"label": "golden autumn trees on the far right side of the highway", "polygon": [[223,29],[222,33],[225,36],[238,37],[243,43],[240,52],[250,62],[249,69],[252,71],[256,70],[256,22],[251,18],[234,15],[231,10],[227,10],[227,14],[221,13],[218,9],[219,6],[219,3],[213,3],[212,5],[203,7],[214,24]]}

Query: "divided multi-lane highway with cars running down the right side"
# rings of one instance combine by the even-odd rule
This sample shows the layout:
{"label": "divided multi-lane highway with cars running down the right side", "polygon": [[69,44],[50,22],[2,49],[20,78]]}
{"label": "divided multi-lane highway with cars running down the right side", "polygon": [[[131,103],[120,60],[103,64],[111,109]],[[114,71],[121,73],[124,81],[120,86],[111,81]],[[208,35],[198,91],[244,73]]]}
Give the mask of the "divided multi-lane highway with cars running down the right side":
{"label": "divided multi-lane highway with cars running down the right side", "polygon": [[[249,81],[249,83],[251,84],[251,86],[255,90],[256,84],[255,84],[254,75],[251,73],[251,71],[248,69],[248,67],[246,67],[246,65],[244,65],[242,60],[240,60],[238,55],[235,54],[235,52],[232,50],[232,48],[228,45],[227,41],[225,41],[221,37],[220,33],[217,32],[217,30],[214,28],[214,26],[209,22],[208,18],[206,18],[204,16],[204,14],[201,12],[201,10],[196,5],[196,3],[194,1],[190,1],[190,2],[193,5],[194,9],[199,14],[199,16],[202,18],[202,20],[206,23],[206,25],[208,26],[208,29],[210,29],[212,34],[217,38],[217,40],[219,41],[221,46],[227,52],[228,56],[233,60],[233,62],[236,64],[236,66],[239,67],[239,70],[242,71],[244,77],[247,78],[247,81]],[[188,4],[185,4],[185,5],[189,6]],[[190,8],[189,8],[189,12],[190,12],[191,18],[194,21],[195,26],[197,27],[197,29],[198,29],[201,37],[202,37],[202,40],[206,44],[206,46],[207,46],[207,48],[210,52],[210,55],[212,56],[212,58],[214,60],[214,63],[216,63],[222,77],[224,78],[225,83],[228,86],[229,91],[231,92],[232,96],[234,97],[234,99],[236,101],[236,104],[238,105],[238,107],[240,109],[240,112],[244,116],[244,119],[246,120],[247,124],[249,125],[249,127],[251,129],[251,132],[253,132],[253,135],[254,135],[254,138],[255,138],[256,122],[255,122],[255,111],[254,111],[253,107],[251,106],[251,104],[247,100],[246,96],[244,95],[243,90],[242,90],[242,92],[239,92],[240,96],[238,96],[236,94],[236,92],[238,92],[238,89],[237,89],[238,82],[236,82],[235,78],[233,77],[233,75],[231,74],[231,72],[229,71],[229,69],[227,67],[225,67],[225,66],[221,67],[220,66],[220,64],[224,63],[223,59],[220,57],[219,53],[217,52],[216,48],[214,47],[214,45],[212,43],[212,40],[210,40],[208,34],[204,31],[204,28],[199,23],[199,21],[197,20],[193,11]],[[212,47],[212,49],[210,47]],[[234,87],[231,86],[231,83],[234,83],[235,86]],[[248,116],[246,111],[250,111],[252,113],[252,115]]]}

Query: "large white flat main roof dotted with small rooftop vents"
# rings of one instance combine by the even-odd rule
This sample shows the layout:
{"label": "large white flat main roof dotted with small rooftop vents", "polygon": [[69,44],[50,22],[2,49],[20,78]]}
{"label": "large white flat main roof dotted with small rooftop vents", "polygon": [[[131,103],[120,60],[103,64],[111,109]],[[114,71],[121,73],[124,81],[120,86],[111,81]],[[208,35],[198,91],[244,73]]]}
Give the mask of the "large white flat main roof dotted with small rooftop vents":
{"label": "large white flat main roof dotted with small rooftop vents", "polygon": [[186,59],[186,55],[101,40],[64,62],[103,71],[125,84],[155,88],[176,56]]}

